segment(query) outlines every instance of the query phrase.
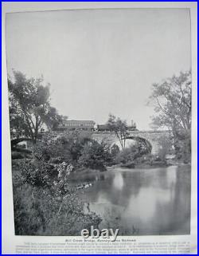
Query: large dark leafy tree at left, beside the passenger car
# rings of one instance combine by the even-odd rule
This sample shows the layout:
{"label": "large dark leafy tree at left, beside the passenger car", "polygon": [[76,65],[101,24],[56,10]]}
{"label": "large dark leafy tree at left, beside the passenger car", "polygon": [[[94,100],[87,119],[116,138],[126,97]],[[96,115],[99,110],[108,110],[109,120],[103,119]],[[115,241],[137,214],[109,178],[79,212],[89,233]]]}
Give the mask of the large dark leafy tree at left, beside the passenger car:
{"label": "large dark leafy tree at left, beside the passenger car", "polygon": [[25,136],[34,143],[46,124],[48,128],[60,122],[56,108],[50,105],[50,85],[43,85],[43,78],[26,78],[14,71],[14,81],[8,79],[10,100],[10,132],[13,138]]}

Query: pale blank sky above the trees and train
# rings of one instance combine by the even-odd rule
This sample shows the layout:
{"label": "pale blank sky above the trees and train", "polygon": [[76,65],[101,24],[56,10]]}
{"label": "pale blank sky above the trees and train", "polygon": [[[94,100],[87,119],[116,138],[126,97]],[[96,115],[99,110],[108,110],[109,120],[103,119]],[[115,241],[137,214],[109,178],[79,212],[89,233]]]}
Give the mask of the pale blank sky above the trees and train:
{"label": "pale blank sky above the trees and train", "polygon": [[112,113],[150,129],[151,85],[191,67],[188,9],[59,10],[7,14],[12,69],[51,84],[69,120],[104,124]]}

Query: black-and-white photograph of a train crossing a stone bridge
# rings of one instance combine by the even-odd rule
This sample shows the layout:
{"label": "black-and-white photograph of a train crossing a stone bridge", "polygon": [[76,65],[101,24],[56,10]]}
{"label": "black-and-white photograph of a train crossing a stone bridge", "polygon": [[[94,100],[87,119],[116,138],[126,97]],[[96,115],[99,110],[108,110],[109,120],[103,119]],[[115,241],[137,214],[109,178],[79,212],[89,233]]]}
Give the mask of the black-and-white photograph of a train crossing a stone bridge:
{"label": "black-and-white photograph of a train crossing a stone bridge", "polygon": [[6,14],[16,235],[190,234],[190,32],[182,8]]}

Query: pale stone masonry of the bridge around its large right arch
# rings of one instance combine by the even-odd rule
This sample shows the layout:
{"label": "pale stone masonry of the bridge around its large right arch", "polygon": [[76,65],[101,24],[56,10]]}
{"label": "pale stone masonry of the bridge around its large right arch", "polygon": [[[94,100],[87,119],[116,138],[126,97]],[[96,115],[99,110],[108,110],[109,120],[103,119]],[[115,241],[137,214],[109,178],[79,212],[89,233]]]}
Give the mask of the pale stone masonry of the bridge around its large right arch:
{"label": "pale stone masonry of the bridge around its large right arch", "polygon": [[[126,147],[130,144],[133,144],[136,138],[142,138],[150,143],[152,149],[151,153],[158,153],[158,149],[161,148],[161,138],[165,136],[167,139],[170,138],[170,131],[129,131],[129,136],[127,138]],[[92,138],[97,141],[107,140],[111,144],[117,144],[119,148],[121,148],[119,144],[118,138],[115,136],[114,132],[93,132]],[[172,145],[170,144],[170,148]]]}

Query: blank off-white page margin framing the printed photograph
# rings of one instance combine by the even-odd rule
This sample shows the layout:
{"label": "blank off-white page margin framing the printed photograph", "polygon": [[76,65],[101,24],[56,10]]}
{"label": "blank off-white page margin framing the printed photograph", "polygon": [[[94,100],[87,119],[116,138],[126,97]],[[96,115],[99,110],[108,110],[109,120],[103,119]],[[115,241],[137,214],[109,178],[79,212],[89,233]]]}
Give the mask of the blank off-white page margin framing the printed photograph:
{"label": "blank off-white page margin framing the printed photograph", "polygon": [[[11,180],[10,132],[6,78],[6,13],[21,11],[74,10],[101,8],[189,8],[192,31],[193,128],[192,128],[192,208],[191,235],[175,236],[190,241],[192,254],[197,254],[197,2],[2,2],[2,254],[15,254],[21,242],[40,242],[40,237],[14,235],[14,214]],[[135,237],[139,241],[171,241],[174,236]],[[64,237],[42,237],[43,242],[60,242]]]}

